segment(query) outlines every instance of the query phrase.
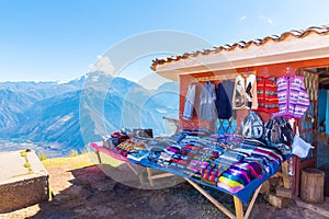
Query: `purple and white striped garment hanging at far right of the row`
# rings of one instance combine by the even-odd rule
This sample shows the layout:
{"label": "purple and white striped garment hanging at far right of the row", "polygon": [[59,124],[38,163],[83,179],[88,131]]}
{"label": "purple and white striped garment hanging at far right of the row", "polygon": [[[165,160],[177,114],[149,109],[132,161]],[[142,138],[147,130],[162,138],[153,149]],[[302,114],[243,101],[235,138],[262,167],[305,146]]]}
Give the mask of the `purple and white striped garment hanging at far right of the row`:
{"label": "purple and white striped garment hanging at far right of the row", "polygon": [[279,113],[274,117],[302,118],[309,105],[303,76],[283,76],[276,79]]}

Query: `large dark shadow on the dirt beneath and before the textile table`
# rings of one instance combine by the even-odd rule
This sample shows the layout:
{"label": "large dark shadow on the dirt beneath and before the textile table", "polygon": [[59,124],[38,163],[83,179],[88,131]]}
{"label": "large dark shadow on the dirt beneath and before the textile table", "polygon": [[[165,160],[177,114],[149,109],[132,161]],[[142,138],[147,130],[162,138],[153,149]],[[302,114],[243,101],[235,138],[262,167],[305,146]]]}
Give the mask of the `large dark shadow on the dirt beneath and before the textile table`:
{"label": "large dark shadow on the dirt beneath and before the textile table", "polygon": [[[110,165],[101,168],[111,169]],[[53,200],[39,204],[41,210],[31,219],[226,218],[188,183],[162,189],[138,189],[113,181],[97,165],[71,173],[72,185]],[[214,189],[208,192],[232,210],[231,196]]]}

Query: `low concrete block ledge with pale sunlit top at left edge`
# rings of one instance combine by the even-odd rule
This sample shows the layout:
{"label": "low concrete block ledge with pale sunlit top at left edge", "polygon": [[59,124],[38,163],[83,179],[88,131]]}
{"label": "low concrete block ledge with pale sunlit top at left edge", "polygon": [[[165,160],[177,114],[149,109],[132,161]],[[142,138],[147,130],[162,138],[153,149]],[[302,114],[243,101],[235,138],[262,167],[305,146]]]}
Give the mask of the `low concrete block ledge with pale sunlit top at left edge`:
{"label": "low concrete block ledge with pale sunlit top at left edge", "polygon": [[34,151],[26,159],[21,151],[0,153],[0,214],[48,200],[48,172]]}

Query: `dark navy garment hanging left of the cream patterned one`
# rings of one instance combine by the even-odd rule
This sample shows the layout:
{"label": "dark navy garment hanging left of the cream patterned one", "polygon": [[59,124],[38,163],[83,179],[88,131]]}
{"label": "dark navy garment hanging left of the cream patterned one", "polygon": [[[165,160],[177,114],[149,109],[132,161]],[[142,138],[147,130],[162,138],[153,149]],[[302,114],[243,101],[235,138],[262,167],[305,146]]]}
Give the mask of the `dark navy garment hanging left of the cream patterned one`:
{"label": "dark navy garment hanging left of the cream patterned one", "polygon": [[223,81],[218,84],[216,96],[216,108],[218,118],[228,119],[231,117],[231,100],[235,83],[232,81]]}

